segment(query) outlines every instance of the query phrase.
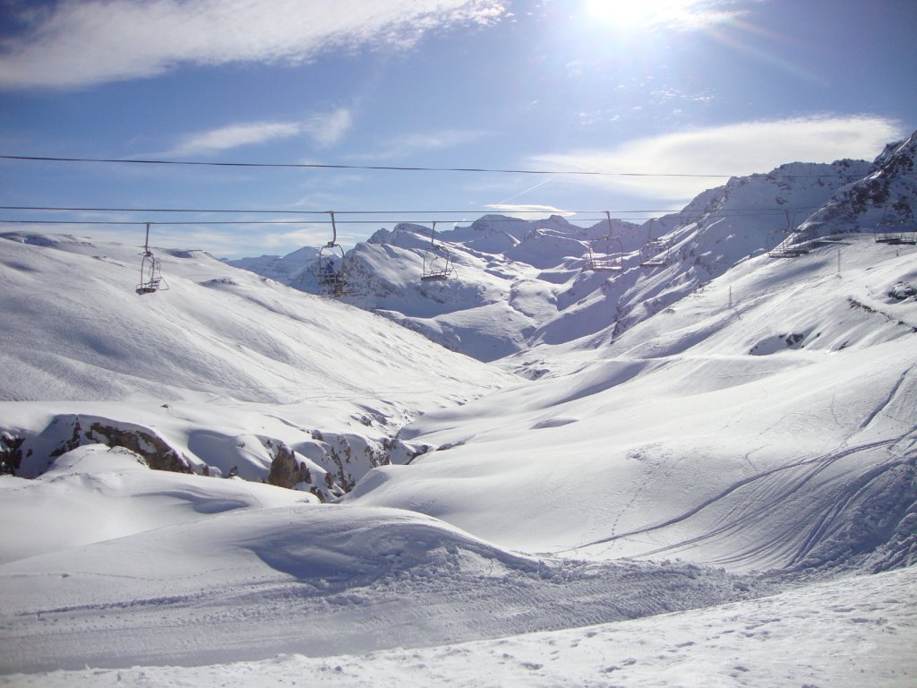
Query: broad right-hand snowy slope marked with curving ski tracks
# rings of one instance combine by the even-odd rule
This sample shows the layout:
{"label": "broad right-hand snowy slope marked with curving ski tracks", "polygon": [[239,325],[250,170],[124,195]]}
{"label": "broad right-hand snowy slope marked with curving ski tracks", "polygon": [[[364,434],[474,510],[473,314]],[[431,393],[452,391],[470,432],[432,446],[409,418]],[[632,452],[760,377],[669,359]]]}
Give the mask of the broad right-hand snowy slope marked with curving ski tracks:
{"label": "broad right-hand snowy slope marked with curving ski tracks", "polygon": [[889,293],[915,257],[862,236],[760,256],[598,348],[531,350],[539,383],[405,427],[436,450],[348,502],[602,559],[912,560],[917,299]]}

